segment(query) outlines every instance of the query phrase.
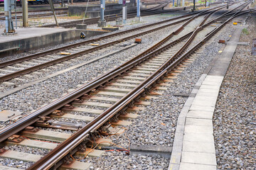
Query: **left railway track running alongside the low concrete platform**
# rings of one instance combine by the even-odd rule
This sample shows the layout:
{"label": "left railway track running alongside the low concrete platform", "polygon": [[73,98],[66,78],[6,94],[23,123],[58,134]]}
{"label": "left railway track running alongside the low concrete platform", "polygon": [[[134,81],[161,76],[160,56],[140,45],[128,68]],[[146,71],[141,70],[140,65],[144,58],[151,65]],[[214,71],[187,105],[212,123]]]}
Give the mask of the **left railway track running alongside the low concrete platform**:
{"label": "left railway track running alongside the low concrete platform", "polygon": [[[0,64],[0,75],[1,75],[0,81],[14,79],[15,77],[19,77],[22,74],[28,74],[29,72],[34,72],[38,69],[42,69],[44,67],[57,64],[59,62],[64,62],[66,60],[70,60],[80,55],[85,55],[90,52],[94,52],[95,50],[100,50],[105,47],[110,47],[111,45],[116,45],[122,41],[131,40],[131,38],[136,38],[156,30],[161,30],[169,26],[174,26],[178,23],[188,21],[191,18],[193,18],[192,15],[181,16],[181,17],[169,19],[166,21],[160,21],[158,23],[152,23],[146,26],[141,26],[139,28],[133,28],[132,30],[124,30],[119,33],[105,35],[101,38],[85,40],[84,42],[78,42],[76,44],[60,47],[54,50],[39,52],[35,55],[29,55],[26,57],[18,58],[16,60],[2,62]],[[169,23],[171,21],[174,21],[174,22]],[[159,26],[160,24],[164,24],[164,25]],[[150,28],[150,27],[153,27],[153,28]],[[138,30],[142,30],[142,29],[146,29],[146,30],[142,31],[141,33],[136,33],[136,34],[133,33],[135,31],[137,32]],[[125,36],[127,34],[128,36]],[[111,40],[111,38],[116,38],[117,36],[120,36],[120,35],[125,37],[119,38],[117,40]],[[92,46],[92,45],[97,45],[97,46]],[[60,55],[60,52],[63,52],[65,56],[63,57],[63,55]]]}

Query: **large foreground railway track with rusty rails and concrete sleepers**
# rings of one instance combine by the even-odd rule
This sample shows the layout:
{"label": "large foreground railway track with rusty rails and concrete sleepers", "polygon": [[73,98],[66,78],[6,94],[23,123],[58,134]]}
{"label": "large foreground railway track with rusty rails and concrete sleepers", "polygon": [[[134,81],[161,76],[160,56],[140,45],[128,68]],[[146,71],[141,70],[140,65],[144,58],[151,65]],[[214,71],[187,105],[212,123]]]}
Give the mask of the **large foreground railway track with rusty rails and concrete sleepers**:
{"label": "large foreground railway track with rusty rails and concrete sleepers", "polygon": [[[247,4],[244,4],[244,6],[245,5]],[[128,115],[124,114],[126,113],[127,108],[134,108],[134,104],[137,103],[143,104],[143,102],[140,101],[141,97],[151,98],[151,96],[146,96],[146,94],[152,89],[161,90],[161,86],[160,88],[156,87],[156,84],[159,84],[160,81],[167,82],[166,80],[168,79],[165,77],[172,76],[174,74],[174,69],[185,60],[188,60],[187,58],[195,52],[195,50],[205,44],[206,41],[217,33],[218,30],[223,28],[228,21],[238,15],[248,12],[250,11],[242,11],[240,13],[233,12],[231,14],[232,16],[219,24],[217,28],[210,28],[208,26],[216,19],[228,16],[231,12],[224,13],[222,16],[205,23],[211,14],[208,13],[206,18],[201,21],[196,29],[187,35],[169,42],[169,38],[174,34],[171,33],[164,40],[147,50],[147,52],[144,52],[137,57],[134,57],[132,60],[125,62],[120,67],[112,69],[110,72],[97,77],[97,79],[90,81],[88,84],[80,86],[80,88],[75,89],[70,92],[70,94],[58,98],[49,105],[40,108],[38,111],[31,113],[31,115],[27,115],[25,118],[10,125],[8,128],[4,128],[0,131],[0,141],[3,142],[9,138],[9,142],[17,141],[16,145],[18,145],[19,141],[33,140],[33,138],[38,139],[38,136],[40,136],[38,134],[41,134],[42,137],[43,130],[46,131],[44,133],[46,137],[47,130],[45,128],[73,130],[75,131],[73,132],[73,135],[69,135],[70,137],[67,137],[68,135],[66,135],[66,138],[63,138],[63,140],[65,140],[64,142],[63,140],[61,142],[59,141],[58,143],[60,144],[58,146],[56,144],[55,149],[48,152],[48,154],[28,169],[50,169],[58,168],[59,166],[63,166],[64,168],[67,167],[67,165],[62,164],[72,163],[73,159],[71,156],[74,155],[75,157],[75,152],[78,150],[80,153],[82,149],[85,150],[86,145],[88,147],[88,141],[92,141],[92,143],[95,144],[92,145],[92,148],[94,149],[102,143],[102,141],[95,139],[97,132],[100,132],[101,135],[103,135],[105,131],[110,128],[110,123],[112,123],[112,125],[118,125],[117,115],[119,115],[120,118],[134,116],[130,113]],[[186,25],[186,23],[183,25]],[[208,29],[208,33],[201,33],[203,28]],[[176,31],[174,32],[178,33],[180,31],[179,28],[177,28]],[[151,95],[154,94],[156,93],[151,93]],[[144,102],[144,104],[146,104],[146,102]],[[52,118],[68,118],[67,111],[80,112],[80,115],[82,115],[80,116],[80,119],[83,117],[84,120],[88,115],[86,113],[90,113],[91,115],[97,113],[98,115],[93,118],[89,116],[91,120],[89,123],[89,118],[87,116],[86,125],[82,126],[82,128],[81,126],[79,127],[78,125],[73,124],[67,125],[67,123],[54,123]],[[73,118],[75,118],[75,115],[73,115]],[[33,123],[36,124],[33,125]],[[28,125],[33,125],[33,127],[28,127]],[[36,127],[41,128],[36,131]],[[22,136],[16,135],[10,137],[20,130],[23,130],[20,133]],[[39,137],[39,139],[43,140],[41,142],[46,142],[45,138],[42,139]],[[48,141],[50,140],[48,139]],[[8,155],[10,152],[4,151],[4,149],[1,151],[2,157],[4,154]],[[88,151],[82,152],[82,157],[86,157],[87,154],[89,154]],[[73,164],[77,164],[77,161]]]}

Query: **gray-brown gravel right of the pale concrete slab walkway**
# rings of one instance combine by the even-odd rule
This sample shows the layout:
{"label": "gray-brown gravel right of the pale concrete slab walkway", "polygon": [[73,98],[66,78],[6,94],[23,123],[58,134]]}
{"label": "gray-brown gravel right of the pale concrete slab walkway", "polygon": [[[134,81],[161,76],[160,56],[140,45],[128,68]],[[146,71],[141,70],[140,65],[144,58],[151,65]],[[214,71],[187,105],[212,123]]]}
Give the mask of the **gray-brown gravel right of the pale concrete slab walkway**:
{"label": "gray-brown gravel right of the pale concrete slab walkway", "polygon": [[[255,14],[247,20],[250,42],[256,35]],[[214,113],[214,136],[218,169],[256,169],[255,127],[256,57],[251,45],[238,45],[220,88]]]}

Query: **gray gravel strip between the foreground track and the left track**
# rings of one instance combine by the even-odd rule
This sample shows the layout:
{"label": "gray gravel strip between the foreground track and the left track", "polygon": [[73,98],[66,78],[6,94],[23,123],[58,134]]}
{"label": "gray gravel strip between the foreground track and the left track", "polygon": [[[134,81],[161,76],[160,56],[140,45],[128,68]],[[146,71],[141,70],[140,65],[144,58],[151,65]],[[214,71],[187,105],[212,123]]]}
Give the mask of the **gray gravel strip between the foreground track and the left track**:
{"label": "gray gravel strip between the foreground track and the left track", "polygon": [[35,86],[30,86],[15,94],[6,96],[0,101],[0,109],[18,110],[24,113],[33,111],[43,104],[49,103],[53,98],[59,98],[62,94],[68,93],[68,89],[75,89],[76,85],[83,84],[84,81],[89,81],[99,74],[102,74],[102,72],[112,69],[122,61],[127,60],[127,57],[138,55],[149,46],[163,39],[166,33],[171,32],[172,30],[166,28],[163,32],[159,31],[158,34],[151,33],[145,35],[142,44],[132,47],[129,50],[119,52],[116,55],[103,58],[102,60],[87,64],[78,69],[73,69],[70,72],[65,72],[57,77],[36,84]]}

